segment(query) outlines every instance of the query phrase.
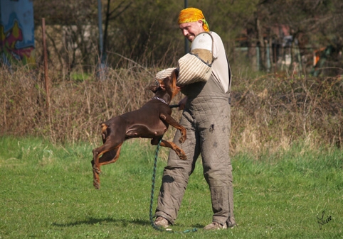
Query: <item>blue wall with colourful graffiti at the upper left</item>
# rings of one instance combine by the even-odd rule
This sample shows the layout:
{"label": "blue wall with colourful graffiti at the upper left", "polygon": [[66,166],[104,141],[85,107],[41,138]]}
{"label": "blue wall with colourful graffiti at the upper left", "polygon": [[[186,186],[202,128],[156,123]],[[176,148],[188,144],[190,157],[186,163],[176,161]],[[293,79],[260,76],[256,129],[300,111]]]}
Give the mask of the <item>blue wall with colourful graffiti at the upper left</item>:
{"label": "blue wall with colourful graffiti at the upper left", "polygon": [[0,1],[0,64],[34,65],[33,0]]}

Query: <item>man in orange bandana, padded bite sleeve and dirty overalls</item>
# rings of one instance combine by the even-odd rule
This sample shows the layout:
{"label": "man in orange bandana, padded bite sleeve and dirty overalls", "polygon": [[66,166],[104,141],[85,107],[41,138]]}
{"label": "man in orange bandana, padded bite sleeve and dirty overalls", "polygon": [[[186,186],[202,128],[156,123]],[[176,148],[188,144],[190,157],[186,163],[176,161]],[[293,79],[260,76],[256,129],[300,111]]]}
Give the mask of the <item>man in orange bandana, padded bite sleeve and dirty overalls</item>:
{"label": "man in orange bandana, padded bite sleeve and dirty overalls", "polygon": [[[187,160],[180,160],[172,150],[169,152],[154,223],[164,228],[174,223],[189,176],[201,155],[213,209],[212,222],[204,229],[232,228],[236,221],[229,156],[230,66],[220,36],[209,31],[201,10],[182,10],[178,23],[182,34],[192,43],[191,52],[180,58],[179,67],[176,68],[179,71],[178,85],[186,95],[180,101],[179,109],[183,110],[180,123],[187,130],[187,139],[180,145],[178,140],[181,135],[177,130],[174,143],[186,152]],[[174,69],[157,73],[157,78],[165,77]]]}

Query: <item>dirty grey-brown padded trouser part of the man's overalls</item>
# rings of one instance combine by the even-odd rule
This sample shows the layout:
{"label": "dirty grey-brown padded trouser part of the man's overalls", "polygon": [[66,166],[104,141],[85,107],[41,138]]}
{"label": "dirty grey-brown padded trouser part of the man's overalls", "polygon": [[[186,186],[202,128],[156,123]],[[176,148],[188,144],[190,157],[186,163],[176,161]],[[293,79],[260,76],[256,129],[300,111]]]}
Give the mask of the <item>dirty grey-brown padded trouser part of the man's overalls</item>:
{"label": "dirty grey-brown padded trouser part of the man's overalls", "polygon": [[180,121],[187,130],[187,139],[183,144],[179,143],[179,130],[174,138],[174,143],[186,152],[187,160],[180,160],[170,150],[155,216],[163,216],[174,223],[189,176],[201,155],[204,177],[211,191],[213,221],[221,224],[230,218],[234,221],[232,166],[228,150],[230,113],[227,96],[201,97],[201,101],[189,99]]}

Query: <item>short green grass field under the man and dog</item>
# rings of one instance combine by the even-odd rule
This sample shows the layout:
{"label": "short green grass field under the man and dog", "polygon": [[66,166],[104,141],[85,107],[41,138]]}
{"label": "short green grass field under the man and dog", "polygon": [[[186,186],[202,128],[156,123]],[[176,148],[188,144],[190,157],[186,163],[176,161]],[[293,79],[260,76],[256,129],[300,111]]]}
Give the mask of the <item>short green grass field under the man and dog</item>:
{"label": "short green grass field under the man and dog", "polygon": [[[155,149],[149,141],[125,143],[120,160],[102,167],[95,190],[91,145],[0,138],[0,238],[343,238],[340,150],[297,145],[259,160],[233,157],[232,230],[201,229],[212,213],[199,162],[172,227],[177,233],[165,233],[149,223]],[[154,204],[165,164],[159,157]],[[331,221],[320,229],[322,211]],[[179,233],[192,228],[199,230]]]}

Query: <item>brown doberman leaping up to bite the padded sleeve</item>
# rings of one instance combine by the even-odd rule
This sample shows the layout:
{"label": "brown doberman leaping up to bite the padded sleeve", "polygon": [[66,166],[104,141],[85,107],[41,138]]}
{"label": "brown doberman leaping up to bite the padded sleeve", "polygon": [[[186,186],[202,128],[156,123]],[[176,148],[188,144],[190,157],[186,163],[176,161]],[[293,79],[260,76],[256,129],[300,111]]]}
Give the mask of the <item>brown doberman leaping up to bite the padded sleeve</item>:
{"label": "brown doberman leaping up to bite the padded sleeve", "polygon": [[[103,145],[93,150],[93,185],[95,189],[100,188],[100,166],[116,162],[120,155],[122,143],[130,138],[151,138],[152,145],[158,145],[169,125],[181,131],[179,143],[186,140],[186,129],[171,117],[169,107],[171,99],[179,93],[176,87],[177,72],[174,71],[171,77],[159,79],[159,87],[150,86],[154,97],[142,108],[116,116],[100,124],[102,131]],[[171,148],[179,155],[181,160],[186,160],[184,150],[174,143],[161,140],[163,147]]]}

